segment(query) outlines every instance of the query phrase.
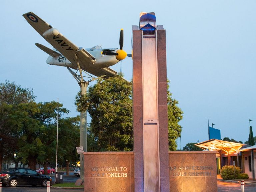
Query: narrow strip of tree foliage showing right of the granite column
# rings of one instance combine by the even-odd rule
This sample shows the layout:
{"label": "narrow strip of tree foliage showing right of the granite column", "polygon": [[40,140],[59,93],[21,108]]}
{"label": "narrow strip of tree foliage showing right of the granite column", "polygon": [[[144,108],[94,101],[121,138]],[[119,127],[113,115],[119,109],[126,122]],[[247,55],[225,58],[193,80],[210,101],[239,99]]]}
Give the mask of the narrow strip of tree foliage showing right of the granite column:
{"label": "narrow strip of tree foliage showing right of the granite column", "polygon": [[175,151],[177,148],[176,139],[180,137],[182,127],[178,124],[183,118],[182,110],[177,106],[178,101],[173,99],[169,91],[169,81],[167,80],[167,106],[168,106],[168,137],[169,150]]}

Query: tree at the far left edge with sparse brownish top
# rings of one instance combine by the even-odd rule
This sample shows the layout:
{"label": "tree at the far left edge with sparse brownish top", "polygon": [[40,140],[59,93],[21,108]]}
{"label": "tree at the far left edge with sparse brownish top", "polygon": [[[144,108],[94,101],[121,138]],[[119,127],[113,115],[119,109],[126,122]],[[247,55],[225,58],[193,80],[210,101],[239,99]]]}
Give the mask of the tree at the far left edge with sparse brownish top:
{"label": "tree at the far left edge with sparse brownish top", "polygon": [[14,82],[0,83],[0,170],[2,169],[3,157],[13,159],[15,162],[20,159],[17,156],[14,157],[17,142],[7,123],[12,106],[34,100],[33,90],[21,88]]}

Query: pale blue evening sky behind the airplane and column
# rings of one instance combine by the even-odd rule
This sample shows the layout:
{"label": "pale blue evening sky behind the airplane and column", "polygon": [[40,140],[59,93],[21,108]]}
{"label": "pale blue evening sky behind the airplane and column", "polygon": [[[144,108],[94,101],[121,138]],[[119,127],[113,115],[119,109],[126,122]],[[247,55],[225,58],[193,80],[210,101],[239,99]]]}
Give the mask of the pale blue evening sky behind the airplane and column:
{"label": "pale blue evening sky behind the airplane and column", "polygon": [[[68,117],[80,115],[74,105],[77,81],[65,67],[46,64],[48,55],[35,43],[52,46],[22,14],[34,12],[83,48],[118,48],[123,28],[123,49],[131,53],[132,25],[139,25],[140,12],[155,12],[157,25],[166,30],[170,91],[184,112],[178,149],[180,141],[183,148],[208,140],[208,119],[221,138],[245,142],[249,119],[256,136],[255,7],[255,0],[2,0],[0,82],[33,89],[36,102],[59,99]],[[119,72],[120,63],[110,68]],[[131,80],[131,58],[123,60],[122,72]]]}

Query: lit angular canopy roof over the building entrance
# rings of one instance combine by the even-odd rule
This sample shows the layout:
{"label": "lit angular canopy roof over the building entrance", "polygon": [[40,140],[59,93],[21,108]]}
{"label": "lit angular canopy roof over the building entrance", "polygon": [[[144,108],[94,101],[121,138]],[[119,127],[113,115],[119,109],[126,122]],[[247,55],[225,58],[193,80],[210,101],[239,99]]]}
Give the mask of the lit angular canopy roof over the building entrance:
{"label": "lit angular canopy roof over the building entrance", "polygon": [[195,144],[195,146],[200,147],[202,149],[208,149],[210,151],[223,150],[227,153],[238,152],[239,149],[244,145],[245,144],[242,144],[242,143],[222,141],[219,139],[210,139],[208,141]]}

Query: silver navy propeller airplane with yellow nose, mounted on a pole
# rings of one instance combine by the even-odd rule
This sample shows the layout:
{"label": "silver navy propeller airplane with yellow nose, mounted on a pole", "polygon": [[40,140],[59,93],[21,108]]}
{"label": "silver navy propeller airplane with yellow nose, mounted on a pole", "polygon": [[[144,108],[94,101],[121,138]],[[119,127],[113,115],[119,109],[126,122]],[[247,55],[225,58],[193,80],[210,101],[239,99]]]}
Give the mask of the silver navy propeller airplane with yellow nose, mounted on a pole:
{"label": "silver navy propeller airplane with yellow nose, mounted on a pole", "polygon": [[[97,77],[108,78],[115,76],[116,71],[109,68],[123,60],[127,53],[123,50],[123,29],[120,31],[120,49],[102,49],[95,46],[91,49],[77,47],[64,37],[57,29],[43,21],[32,12],[23,14],[28,23],[55,49],[49,49],[44,45],[36,43],[36,46],[49,54],[46,63],[82,69]],[[128,55],[131,57],[131,55]]]}

